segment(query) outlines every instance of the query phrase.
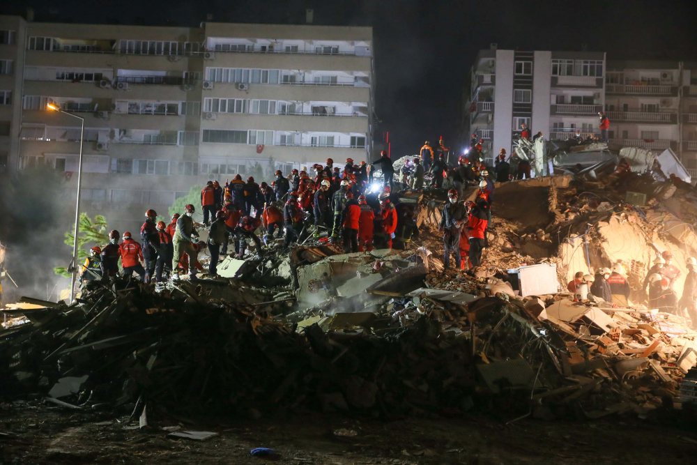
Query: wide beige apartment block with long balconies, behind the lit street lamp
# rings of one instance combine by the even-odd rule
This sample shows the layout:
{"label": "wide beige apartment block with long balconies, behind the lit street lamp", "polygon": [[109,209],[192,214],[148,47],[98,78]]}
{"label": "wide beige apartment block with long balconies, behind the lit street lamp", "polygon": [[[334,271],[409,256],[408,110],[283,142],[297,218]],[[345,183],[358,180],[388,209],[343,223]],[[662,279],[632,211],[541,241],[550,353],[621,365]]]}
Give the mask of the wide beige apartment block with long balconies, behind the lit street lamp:
{"label": "wide beige apartment block with long balconies, behind the lit street lamp", "polygon": [[369,27],[0,16],[0,165],[66,171],[74,198],[80,121],[59,105],[84,118],[84,211],[133,229],[209,179],[369,158],[374,79]]}

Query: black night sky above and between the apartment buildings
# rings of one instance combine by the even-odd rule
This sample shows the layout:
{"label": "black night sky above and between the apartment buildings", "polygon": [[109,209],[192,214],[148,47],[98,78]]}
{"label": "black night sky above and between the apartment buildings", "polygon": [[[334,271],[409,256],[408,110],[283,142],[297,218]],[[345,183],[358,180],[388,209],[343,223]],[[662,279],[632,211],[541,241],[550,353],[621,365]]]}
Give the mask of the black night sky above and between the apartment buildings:
{"label": "black night sky above and between the apartment buildings", "polygon": [[[380,130],[393,157],[424,139],[456,148],[466,73],[477,50],[606,51],[608,59],[697,59],[697,1],[448,0],[61,0],[17,2],[5,14],[36,10],[37,21],[197,26],[216,22],[373,26]],[[376,139],[380,135],[376,134]]]}

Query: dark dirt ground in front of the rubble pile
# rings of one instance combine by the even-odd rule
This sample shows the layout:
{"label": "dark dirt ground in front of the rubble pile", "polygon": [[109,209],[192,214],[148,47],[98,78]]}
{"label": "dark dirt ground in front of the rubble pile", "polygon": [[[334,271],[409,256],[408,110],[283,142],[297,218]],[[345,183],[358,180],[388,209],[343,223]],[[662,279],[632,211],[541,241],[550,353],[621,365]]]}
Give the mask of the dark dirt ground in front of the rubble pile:
{"label": "dark dirt ground in front of the rubble pile", "polygon": [[[3,404],[0,464],[671,464],[694,463],[697,432],[608,417],[596,422],[488,418],[393,422],[296,414],[184,429],[217,432],[206,441],[169,439],[159,422],[137,429],[128,416],[66,411],[40,402]],[[358,433],[336,436],[337,429]],[[275,457],[250,457],[273,448]]]}

